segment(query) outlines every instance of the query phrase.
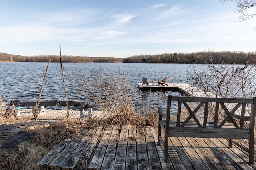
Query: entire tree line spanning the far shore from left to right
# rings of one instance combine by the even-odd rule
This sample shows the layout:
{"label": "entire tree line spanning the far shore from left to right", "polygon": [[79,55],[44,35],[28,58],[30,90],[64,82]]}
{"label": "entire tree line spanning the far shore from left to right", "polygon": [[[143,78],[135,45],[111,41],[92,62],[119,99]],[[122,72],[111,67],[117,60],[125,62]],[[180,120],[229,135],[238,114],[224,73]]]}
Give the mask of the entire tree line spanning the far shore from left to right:
{"label": "entire tree line spanning the far shore from left to right", "polygon": [[[58,55],[21,56],[0,53],[2,62],[60,62]],[[126,58],[114,57],[86,57],[62,56],[66,63],[182,63],[182,64],[245,64],[256,63],[256,51],[244,53],[242,51],[202,51],[197,53],[164,53],[157,55],[134,55]]]}

